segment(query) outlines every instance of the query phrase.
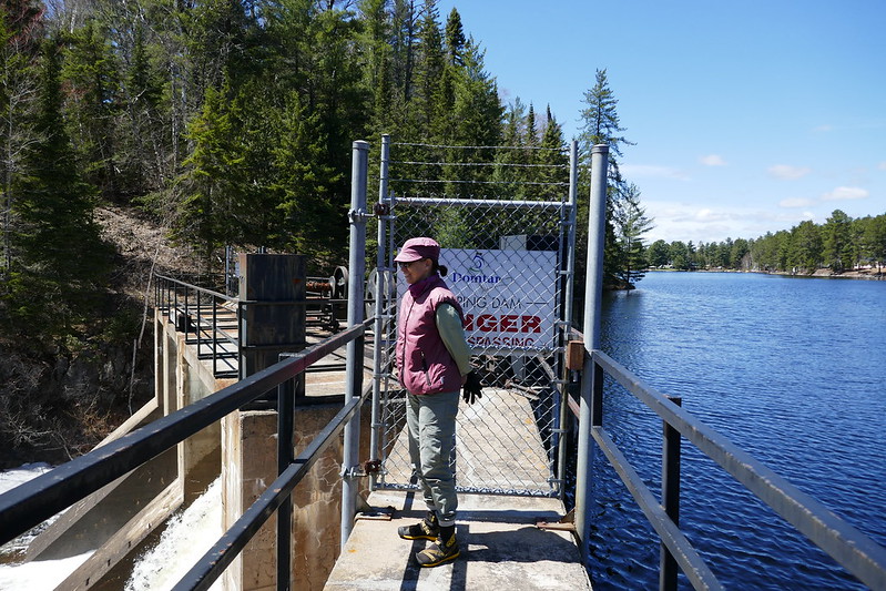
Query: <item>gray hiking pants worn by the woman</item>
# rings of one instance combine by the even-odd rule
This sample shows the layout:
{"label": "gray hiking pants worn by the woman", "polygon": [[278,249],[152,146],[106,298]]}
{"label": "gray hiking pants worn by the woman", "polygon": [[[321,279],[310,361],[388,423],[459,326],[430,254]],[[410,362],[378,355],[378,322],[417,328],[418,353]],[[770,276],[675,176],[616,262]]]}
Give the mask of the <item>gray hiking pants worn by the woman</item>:
{"label": "gray hiking pants worn by the woman", "polygon": [[437,513],[440,526],[455,524],[458,508],[456,478],[449,465],[456,445],[458,398],[458,390],[406,395],[409,459],[425,503]]}

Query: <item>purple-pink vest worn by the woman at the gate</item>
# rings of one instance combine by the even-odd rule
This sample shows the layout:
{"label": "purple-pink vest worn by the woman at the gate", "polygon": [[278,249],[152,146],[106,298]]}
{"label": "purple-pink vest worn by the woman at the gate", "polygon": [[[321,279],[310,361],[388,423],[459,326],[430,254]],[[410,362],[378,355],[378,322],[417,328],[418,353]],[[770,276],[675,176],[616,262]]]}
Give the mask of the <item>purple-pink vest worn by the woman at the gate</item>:
{"label": "purple-pink vest worn by the woman at the gate", "polygon": [[400,384],[410,394],[437,394],[461,388],[458,365],[437,330],[437,306],[451,304],[464,322],[456,296],[439,275],[410,285],[400,302],[397,326],[397,367]]}

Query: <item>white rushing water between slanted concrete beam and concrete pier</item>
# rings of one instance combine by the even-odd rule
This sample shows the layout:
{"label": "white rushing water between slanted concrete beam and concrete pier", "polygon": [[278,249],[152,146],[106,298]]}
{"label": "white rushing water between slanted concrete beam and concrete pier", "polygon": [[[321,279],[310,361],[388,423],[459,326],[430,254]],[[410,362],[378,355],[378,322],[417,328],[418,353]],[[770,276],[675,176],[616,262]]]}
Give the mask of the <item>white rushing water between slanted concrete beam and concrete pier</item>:
{"label": "white rushing water between slanted concrete beam and concrete pier", "polygon": [[[170,519],[157,544],[135,561],[126,591],[172,589],[222,533],[222,486],[216,479],[191,507]],[[221,589],[221,579],[212,589]]]}

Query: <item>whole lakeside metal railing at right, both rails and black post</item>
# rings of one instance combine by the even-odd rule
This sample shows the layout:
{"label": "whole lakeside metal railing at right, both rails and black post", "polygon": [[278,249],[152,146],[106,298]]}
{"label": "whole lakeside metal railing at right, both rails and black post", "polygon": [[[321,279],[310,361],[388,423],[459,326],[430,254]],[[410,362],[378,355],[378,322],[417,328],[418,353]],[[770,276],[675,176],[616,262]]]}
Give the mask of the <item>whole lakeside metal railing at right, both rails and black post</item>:
{"label": "whole lakeside metal railing at right, both rails and black post", "polygon": [[[603,428],[604,375],[611,376],[663,421],[661,502]],[[661,537],[659,589],[676,589],[676,567],[680,567],[694,589],[722,589],[714,573],[679,527],[680,456],[683,439],[719,463],[864,584],[872,589],[886,589],[886,548],[693,417],[680,406],[679,398],[668,397],[646,386],[601,350],[593,350],[591,354],[585,351],[582,380],[582,390],[589,389],[591,395],[591,437]],[[569,406],[578,417],[578,403],[570,400]],[[580,470],[589,468],[590,463],[579,467]],[[584,543],[587,544],[587,540]]]}

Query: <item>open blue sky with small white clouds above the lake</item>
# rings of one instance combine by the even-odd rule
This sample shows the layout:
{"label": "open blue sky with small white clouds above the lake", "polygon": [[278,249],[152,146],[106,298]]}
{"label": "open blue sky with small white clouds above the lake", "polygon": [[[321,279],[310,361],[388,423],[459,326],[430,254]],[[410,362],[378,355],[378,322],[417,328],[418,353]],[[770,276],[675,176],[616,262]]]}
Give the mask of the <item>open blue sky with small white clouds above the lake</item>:
{"label": "open blue sky with small white clouds above the lake", "polygon": [[605,69],[649,242],[720,242],[886,213],[886,2],[445,0],[572,139]]}

